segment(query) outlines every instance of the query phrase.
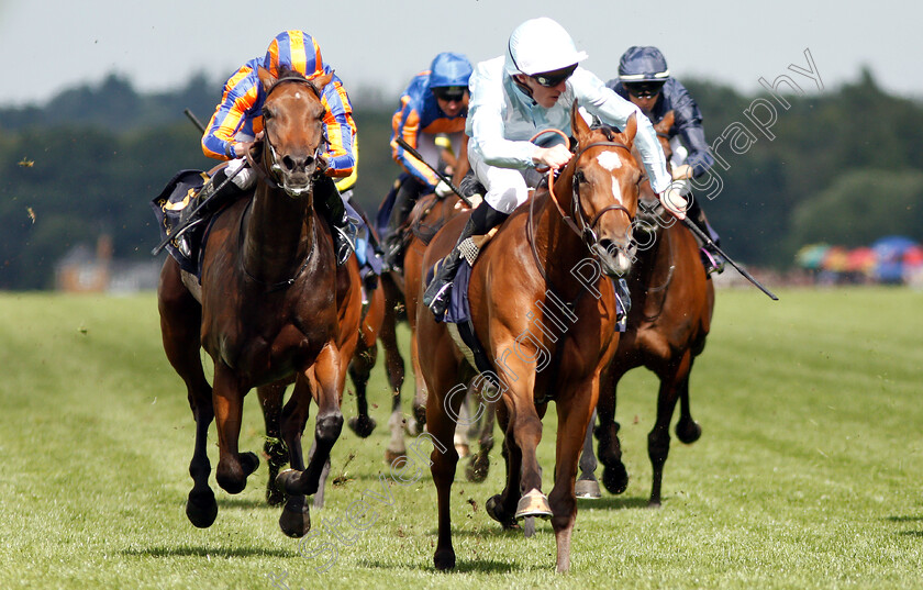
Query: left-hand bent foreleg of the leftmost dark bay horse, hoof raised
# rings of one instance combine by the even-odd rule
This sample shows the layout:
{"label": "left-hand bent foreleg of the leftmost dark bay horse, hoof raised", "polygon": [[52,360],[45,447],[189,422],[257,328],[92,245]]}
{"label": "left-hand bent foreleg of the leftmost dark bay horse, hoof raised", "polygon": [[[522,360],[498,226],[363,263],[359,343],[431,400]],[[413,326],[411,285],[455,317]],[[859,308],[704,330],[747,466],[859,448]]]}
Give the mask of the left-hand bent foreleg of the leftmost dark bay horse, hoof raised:
{"label": "left-hand bent foreleg of the leftmost dark bay horse, hoof raised", "polygon": [[227,493],[241,493],[247,485],[247,476],[259,466],[256,454],[237,450],[244,393],[246,390],[234,371],[224,363],[215,363],[212,390],[219,448],[215,479]]}

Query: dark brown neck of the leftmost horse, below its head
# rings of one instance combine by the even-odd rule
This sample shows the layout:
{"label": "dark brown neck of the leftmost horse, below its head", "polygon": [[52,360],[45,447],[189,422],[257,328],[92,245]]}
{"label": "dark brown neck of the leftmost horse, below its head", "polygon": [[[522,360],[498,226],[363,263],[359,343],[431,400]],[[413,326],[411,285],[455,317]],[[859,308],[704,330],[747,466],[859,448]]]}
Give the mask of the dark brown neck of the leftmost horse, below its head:
{"label": "dark brown neck of the leftmost horse, below its head", "polygon": [[244,220],[244,268],[265,282],[290,279],[313,248],[312,225],[307,198],[259,185]]}

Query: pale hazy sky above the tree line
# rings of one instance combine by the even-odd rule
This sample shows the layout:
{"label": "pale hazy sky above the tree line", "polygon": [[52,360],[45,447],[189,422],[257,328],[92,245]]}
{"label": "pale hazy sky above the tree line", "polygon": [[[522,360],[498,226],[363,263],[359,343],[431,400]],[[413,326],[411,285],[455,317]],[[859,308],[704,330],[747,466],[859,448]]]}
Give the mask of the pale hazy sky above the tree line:
{"label": "pale hazy sky above the tree line", "polygon": [[285,29],[313,34],[347,89],[397,97],[438,52],[500,55],[512,29],[540,15],[571,33],[590,55],[582,65],[603,80],[626,47],[657,45],[680,79],[750,91],[759,77],[793,76],[791,64],[807,68],[807,48],[829,89],[867,65],[886,89],[923,98],[923,4],[911,1],[0,0],[0,101],[44,102],[112,71],[141,91],[180,87],[197,71],[223,80]]}

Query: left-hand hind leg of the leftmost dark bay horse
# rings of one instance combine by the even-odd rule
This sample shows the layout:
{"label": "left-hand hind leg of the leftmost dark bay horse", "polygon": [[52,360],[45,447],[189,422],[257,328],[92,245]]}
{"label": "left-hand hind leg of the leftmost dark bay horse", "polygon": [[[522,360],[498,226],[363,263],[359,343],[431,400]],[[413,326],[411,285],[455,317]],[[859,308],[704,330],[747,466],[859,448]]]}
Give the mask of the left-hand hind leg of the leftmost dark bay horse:
{"label": "left-hand hind leg of the leftmost dark bay horse", "polygon": [[196,420],[196,448],[189,463],[192,490],[186,501],[186,515],[193,525],[205,528],[218,516],[218,503],[209,487],[211,463],[207,452],[209,426],[214,419],[212,389],[199,357],[202,309],[182,285],[179,266],[167,258],[157,289],[160,333],[170,365],[186,382],[189,407]]}

